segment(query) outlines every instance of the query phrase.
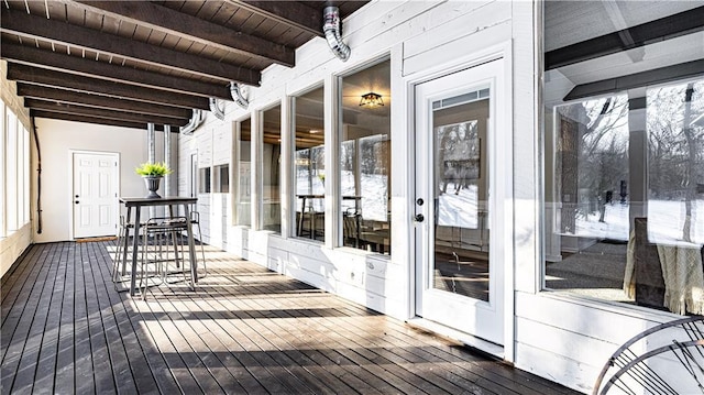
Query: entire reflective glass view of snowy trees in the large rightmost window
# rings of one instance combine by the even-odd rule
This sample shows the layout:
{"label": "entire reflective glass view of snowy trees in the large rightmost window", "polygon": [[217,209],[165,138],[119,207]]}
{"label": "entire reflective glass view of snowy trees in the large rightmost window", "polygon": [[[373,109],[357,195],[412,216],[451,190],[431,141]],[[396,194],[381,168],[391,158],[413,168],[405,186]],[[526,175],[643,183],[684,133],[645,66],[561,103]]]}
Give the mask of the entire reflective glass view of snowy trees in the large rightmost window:
{"label": "entire reflective glass view of snowy trees in the large rightmost window", "polygon": [[642,99],[554,108],[546,286],[702,314],[704,81],[649,88]]}

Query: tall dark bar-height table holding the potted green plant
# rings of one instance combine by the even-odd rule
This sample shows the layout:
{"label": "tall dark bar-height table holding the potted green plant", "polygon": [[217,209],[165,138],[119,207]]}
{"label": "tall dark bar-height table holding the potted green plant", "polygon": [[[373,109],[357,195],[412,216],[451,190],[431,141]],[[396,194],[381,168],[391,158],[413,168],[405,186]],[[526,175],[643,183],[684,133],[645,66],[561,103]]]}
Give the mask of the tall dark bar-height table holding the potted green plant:
{"label": "tall dark bar-height table holding the potted green plant", "polygon": [[[167,206],[169,210],[169,215],[174,215],[174,207],[176,207],[176,212],[178,212],[178,206],[184,207],[184,213],[187,218],[186,228],[188,233],[188,254],[190,255],[190,281],[193,286],[196,286],[198,282],[198,262],[196,261],[196,242],[194,241],[194,232],[190,223],[190,215],[188,212],[188,206],[194,205],[198,201],[198,198],[195,197],[180,197],[180,196],[166,196],[162,198],[133,198],[133,197],[121,197],[120,202],[124,204],[124,207],[128,209],[128,218],[127,223],[130,223],[130,219],[132,217],[132,210],[134,212],[134,238],[132,240],[132,268],[131,268],[131,277],[130,277],[130,295],[134,295],[134,288],[136,286],[136,261],[138,261],[138,250],[139,250],[139,235],[140,235],[140,221],[141,221],[141,211],[142,207],[150,206]],[[130,240],[129,228],[125,230],[124,238],[124,249],[122,252],[122,262],[127,262],[128,259],[128,243]],[[124,266],[122,266],[122,274],[124,274]]]}

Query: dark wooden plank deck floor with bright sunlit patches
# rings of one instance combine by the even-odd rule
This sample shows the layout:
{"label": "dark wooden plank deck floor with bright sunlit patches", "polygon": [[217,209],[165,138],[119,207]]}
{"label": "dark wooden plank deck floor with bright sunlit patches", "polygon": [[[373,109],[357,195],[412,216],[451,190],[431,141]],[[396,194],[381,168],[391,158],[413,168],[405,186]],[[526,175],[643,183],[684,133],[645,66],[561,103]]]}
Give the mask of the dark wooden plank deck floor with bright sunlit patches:
{"label": "dark wooden plank deck floor with bright sunlit patches", "polygon": [[196,292],[131,298],[109,251],[35,244],[4,276],[0,393],[573,393],[216,250]]}

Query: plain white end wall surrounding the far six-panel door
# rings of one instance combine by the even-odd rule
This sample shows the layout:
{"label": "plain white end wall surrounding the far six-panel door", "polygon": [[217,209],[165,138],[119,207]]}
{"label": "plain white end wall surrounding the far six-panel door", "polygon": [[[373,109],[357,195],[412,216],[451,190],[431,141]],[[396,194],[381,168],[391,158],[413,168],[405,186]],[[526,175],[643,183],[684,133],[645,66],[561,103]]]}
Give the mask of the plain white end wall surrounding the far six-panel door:
{"label": "plain white end wall surrounding the far six-panel door", "polygon": [[[146,131],[41,118],[36,119],[35,124],[42,151],[43,224],[41,234],[34,229],[35,242],[70,240],[72,151],[118,153],[118,196],[146,194],[144,180],[134,173],[134,167],[147,160]],[[156,135],[157,161],[161,161],[164,151],[163,133],[157,132]],[[33,160],[32,174],[36,174],[36,158]],[[36,212],[36,177],[33,178],[33,186],[32,205],[33,212]]]}

